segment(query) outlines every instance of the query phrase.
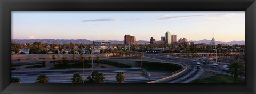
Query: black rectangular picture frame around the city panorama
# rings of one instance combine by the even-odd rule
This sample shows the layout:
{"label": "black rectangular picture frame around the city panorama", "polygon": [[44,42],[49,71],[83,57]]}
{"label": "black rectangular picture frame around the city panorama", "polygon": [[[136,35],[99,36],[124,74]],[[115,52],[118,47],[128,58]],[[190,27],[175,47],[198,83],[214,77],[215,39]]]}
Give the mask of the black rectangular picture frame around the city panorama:
{"label": "black rectangular picture frame around the city panorama", "polygon": [[[255,0],[0,0],[1,93],[255,93]],[[245,83],[10,83],[11,11],[245,11]]]}

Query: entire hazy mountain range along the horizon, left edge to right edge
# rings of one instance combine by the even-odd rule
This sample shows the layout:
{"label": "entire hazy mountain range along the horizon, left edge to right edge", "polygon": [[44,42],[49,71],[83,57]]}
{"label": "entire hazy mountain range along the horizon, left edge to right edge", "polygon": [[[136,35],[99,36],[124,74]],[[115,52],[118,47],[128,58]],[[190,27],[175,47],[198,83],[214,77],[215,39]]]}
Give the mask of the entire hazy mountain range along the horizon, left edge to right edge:
{"label": "entire hazy mountain range along the horizon, left edge to right edge", "polygon": [[[59,44],[69,44],[70,42],[72,43],[83,43],[83,44],[92,44],[93,41],[87,40],[87,39],[12,39],[12,43],[34,43],[34,42],[41,42],[41,43],[59,43]],[[124,44],[124,41],[119,41],[119,40],[109,40],[110,42],[117,43],[117,44]],[[205,43],[209,44],[211,40],[199,40],[199,41],[194,41],[196,43]],[[140,43],[147,43],[149,41],[145,40],[138,40],[136,42]],[[193,42],[193,40],[190,40],[190,42]],[[245,41],[230,41],[230,42],[222,42],[222,41],[217,41],[218,44],[238,44],[238,45],[244,45]]]}

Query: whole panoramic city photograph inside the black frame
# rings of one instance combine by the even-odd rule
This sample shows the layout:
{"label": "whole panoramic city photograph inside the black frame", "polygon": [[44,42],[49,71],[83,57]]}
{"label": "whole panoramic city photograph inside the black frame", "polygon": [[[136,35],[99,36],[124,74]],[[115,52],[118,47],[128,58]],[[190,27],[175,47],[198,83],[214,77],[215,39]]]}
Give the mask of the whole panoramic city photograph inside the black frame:
{"label": "whole panoramic city photograph inside the black frame", "polygon": [[11,15],[11,83],[245,83],[244,11]]}

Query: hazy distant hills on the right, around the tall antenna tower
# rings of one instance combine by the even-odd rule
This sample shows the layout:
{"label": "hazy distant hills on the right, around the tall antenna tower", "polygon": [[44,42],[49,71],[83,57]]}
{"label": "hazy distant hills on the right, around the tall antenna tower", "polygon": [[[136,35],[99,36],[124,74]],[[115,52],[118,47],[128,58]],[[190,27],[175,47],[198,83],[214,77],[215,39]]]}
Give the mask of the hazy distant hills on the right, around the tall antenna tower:
{"label": "hazy distant hills on the right, around the tall antenna tower", "polygon": [[[211,40],[203,39],[203,40],[199,40],[199,41],[195,41],[195,42],[196,42],[196,44],[197,44],[197,43],[210,44],[210,41],[211,41]],[[190,42],[193,42],[193,41],[190,40]],[[231,44],[231,45],[234,45],[234,44],[244,45],[244,44],[245,44],[245,41],[231,41],[231,42],[217,41],[217,42],[218,42],[218,44]]]}

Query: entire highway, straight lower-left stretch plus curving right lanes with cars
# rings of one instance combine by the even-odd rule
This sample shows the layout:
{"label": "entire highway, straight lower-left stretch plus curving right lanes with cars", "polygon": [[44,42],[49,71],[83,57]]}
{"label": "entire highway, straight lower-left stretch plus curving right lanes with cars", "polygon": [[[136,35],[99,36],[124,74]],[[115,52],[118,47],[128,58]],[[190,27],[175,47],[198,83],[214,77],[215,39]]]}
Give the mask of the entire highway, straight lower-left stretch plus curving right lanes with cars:
{"label": "entire highway, straight lower-left stretch plus curving right lanes with cars", "polygon": [[[170,55],[159,55],[152,53],[144,53],[144,57],[163,61],[164,63],[172,62],[172,63],[180,63],[180,57],[173,57]],[[171,57],[171,58],[167,58]],[[204,66],[203,61],[207,59],[207,57],[198,58],[196,62],[193,62],[194,59],[181,58],[182,63],[186,64],[188,69],[181,73],[180,75],[173,77],[171,79],[162,81],[160,83],[188,83],[190,81],[195,80],[204,72],[204,69],[209,70],[209,65],[214,61],[210,61],[210,64],[206,64]],[[201,69],[196,68],[196,63],[201,62]],[[212,71],[221,72],[221,63],[217,62],[217,68],[211,68]],[[227,65],[227,63],[222,63],[222,65]],[[143,65],[142,65],[143,66]],[[126,68],[126,69],[100,69],[94,70],[105,74],[105,83],[117,83],[115,76],[117,72],[124,72],[126,80],[124,83],[146,83],[149,81],[154,81],[158,79],[165,78],[167,76],[171,76],[171,72],[167,71],[157,71],[157,70],[148,70],[151,73],[150,80],[141,75],[140,68]],[[226,74],[224,70],[223,73]],[[71,78],[74,73],[80,73],[82,76],[82,70],[42,70],[42,71],[12,71],[12,77],[19,77],[21,79],[21,83],[34,83],[36,81],[37,76],[39,74],[46,74],[49,77],[50,83],[71,83]],[[84,70],[84,79],[87,76],[90,76],[92,73],[91,69]]]}

